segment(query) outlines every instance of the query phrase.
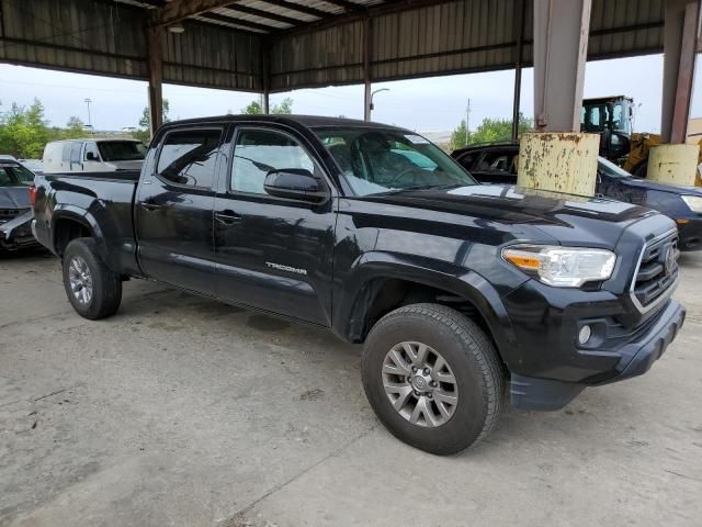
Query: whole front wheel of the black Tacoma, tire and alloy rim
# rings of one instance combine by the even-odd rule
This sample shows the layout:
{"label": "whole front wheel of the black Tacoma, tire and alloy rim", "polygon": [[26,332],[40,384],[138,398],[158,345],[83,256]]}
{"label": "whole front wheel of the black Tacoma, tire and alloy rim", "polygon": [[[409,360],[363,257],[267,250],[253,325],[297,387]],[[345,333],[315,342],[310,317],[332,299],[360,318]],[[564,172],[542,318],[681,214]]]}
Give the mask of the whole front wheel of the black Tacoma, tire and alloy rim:
{"label": "whole front wheel of the black Tacoma, tire and alloy rim", "polygon": [[406,305],[384,316],[366,339],[362,374],[385,427],[431,453],[473,445],[501,411],[505,377],[492,344],[443,305]]}

